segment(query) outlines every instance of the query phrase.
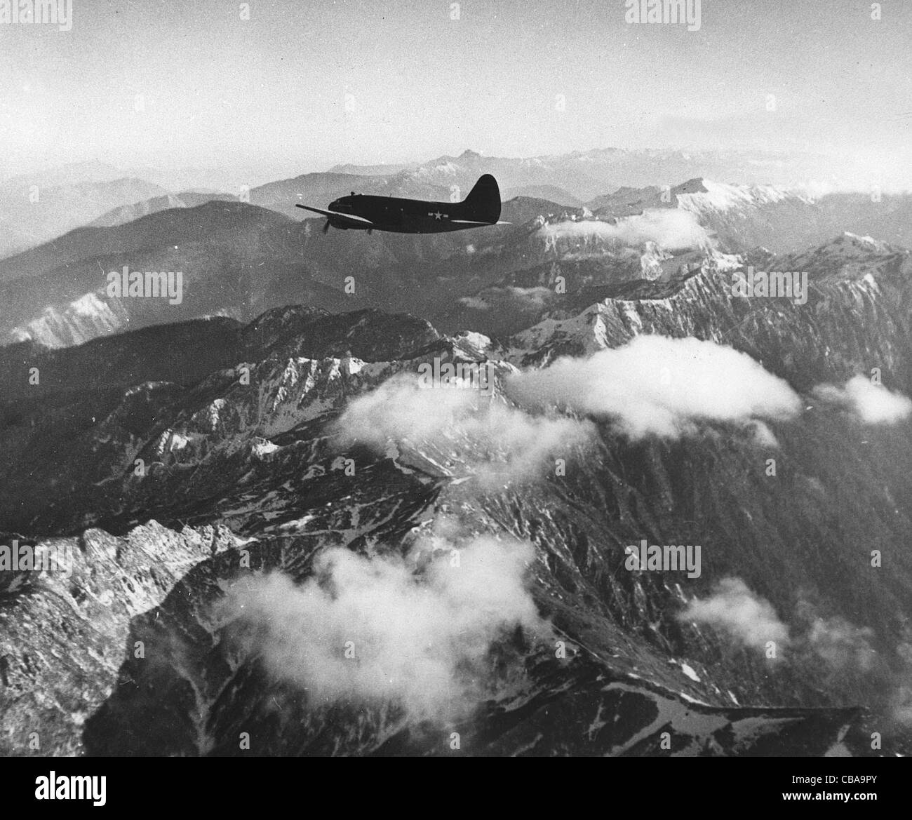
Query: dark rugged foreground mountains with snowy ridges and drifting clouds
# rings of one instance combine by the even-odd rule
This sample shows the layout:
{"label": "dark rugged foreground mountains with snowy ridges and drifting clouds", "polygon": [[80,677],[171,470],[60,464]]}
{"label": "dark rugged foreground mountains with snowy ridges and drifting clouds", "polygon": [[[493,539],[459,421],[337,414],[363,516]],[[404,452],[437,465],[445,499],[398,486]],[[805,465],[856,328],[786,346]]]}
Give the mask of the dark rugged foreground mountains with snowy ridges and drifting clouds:
{"label": "dark rugged foreground mountains with snowy ridges and drifting clouds", "polygon": [[5,753],[908,753],[909,260],[812,258],[804,304],[704,253],[499,340],[282,307],[3,348],[5,543],[73,556],[0,578]]}

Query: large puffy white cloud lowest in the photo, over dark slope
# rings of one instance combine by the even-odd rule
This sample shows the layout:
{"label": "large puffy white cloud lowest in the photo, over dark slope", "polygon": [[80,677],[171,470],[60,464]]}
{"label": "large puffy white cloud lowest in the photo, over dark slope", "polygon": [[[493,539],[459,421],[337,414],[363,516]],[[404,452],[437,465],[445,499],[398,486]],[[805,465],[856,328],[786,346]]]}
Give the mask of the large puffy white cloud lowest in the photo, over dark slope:
{"label": "large puffy white cloud lowest in the photo, over dark slope", "polygon": [[550,634],[525,582],[533,560],[532,545],[491,536],[429,537],[409,559],[331,548],[303,584],[279,573],[239,582],[219,614],[314,705],[393,702],[446,720],[485,696],[495,641],[517,627]]}

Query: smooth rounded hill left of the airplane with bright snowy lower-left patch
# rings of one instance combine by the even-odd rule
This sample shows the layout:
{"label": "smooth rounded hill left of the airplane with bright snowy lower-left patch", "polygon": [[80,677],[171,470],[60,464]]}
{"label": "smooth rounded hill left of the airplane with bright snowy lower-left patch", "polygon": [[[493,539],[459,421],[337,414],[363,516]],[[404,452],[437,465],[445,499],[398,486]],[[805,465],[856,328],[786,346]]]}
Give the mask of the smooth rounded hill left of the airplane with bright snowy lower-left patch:
{"label": "smooth rounded hill left of the airplane with bright snowy lower-left patch", "polygon": [[[109,228],[80,228],[53,243],[0,261],[0,332],[51,347],[101,333],[193,317],[249,320],[285,301],[289,291],[313,306],[357,306],[341,288],[318,281],[297,240],[307,224],[244,202],[172,208]],[[313,232],[317,233],[317,232]],[[181,293],[110,295],[108,275],[181,273]],[[176,283],[176,280],[174,280]],[[340,283],[341,284],[341,283]]]}

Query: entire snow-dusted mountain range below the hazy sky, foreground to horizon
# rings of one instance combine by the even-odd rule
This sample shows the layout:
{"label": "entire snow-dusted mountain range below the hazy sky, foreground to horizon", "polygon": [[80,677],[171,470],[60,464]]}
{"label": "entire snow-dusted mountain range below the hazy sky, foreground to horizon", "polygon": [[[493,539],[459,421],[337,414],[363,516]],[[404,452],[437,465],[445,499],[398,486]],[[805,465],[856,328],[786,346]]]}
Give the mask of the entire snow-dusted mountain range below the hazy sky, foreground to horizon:
{"label": "entire snow-dusted mountain range below the hazy sky, foreground to horizon", "polygon": [[[152,186],[0,259],[0,546],[67,557],[0,549],[0,753],[912,752],[912,201],[710,160]],[[294,208],[482,168],[509,224]]]}

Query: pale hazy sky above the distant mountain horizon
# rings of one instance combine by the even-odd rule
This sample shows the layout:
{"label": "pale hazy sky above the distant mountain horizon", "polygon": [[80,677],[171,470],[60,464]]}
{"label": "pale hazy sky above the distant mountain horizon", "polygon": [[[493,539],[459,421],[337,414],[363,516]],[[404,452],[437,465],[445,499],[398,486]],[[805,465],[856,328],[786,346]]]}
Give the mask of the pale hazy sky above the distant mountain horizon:
{"label": "pale hazy sky above the distant mountain horizon", "polygon": [[912,143],[907,0],[702,0],[698,31],[623,0],[72,4],[70,31],[0,24],[0,171]]}

